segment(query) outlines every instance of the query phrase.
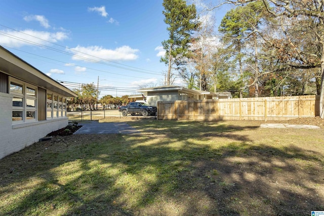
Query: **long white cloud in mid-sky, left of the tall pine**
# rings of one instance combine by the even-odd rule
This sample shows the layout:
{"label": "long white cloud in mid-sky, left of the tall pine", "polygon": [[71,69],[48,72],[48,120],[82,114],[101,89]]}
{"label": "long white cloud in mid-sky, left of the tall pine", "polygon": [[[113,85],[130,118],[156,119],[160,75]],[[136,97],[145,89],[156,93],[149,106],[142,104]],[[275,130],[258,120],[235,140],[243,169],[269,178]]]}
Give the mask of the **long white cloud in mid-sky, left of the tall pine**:
{"label": "long white cloud in mid-sky, left of the tall pine", "polygon": [[[95,61],[130,61],[136,60],[138,56],[136,53],[139,52],[137,49],[132,49],[129,46],[123,46],[116,48],[114,50],[104,49],[99,46],[91,46],[91,47],[81,47],[77,46],[75,48],[71,48],[68,51],[72,51],[74,56],[73,60],[83,60],[90,62],[92,60]],[[97,57],[97,58],[96,58]]]}

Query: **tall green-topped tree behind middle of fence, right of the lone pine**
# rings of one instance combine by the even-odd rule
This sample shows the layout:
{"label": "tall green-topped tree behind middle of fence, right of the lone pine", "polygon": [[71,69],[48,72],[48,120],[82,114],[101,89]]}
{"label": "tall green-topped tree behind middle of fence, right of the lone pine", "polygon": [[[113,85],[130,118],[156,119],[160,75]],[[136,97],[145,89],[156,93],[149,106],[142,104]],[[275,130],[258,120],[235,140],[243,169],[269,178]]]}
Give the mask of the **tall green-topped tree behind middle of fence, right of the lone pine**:
{"label": "tall green-topped tree behind middle of fence, right of the lone pine", "polygon": [[[271,10],[270,8],[268,10]],[[230,10],[223,18],[219,31],[223,35],[223,41],[229,42],[228,49],[233,49],[239,66],[240,82],[244,84],[244,66],[245,58],[246,73],[250,76],[249,86],[254,85],[254,96],[259,97],[259,76],[260,76],[260,50],[261,38],[258,30],[262,21],[267,18],[268,12],[264,4],[252,2],[244,6],[239,6]],[[245,51],[245,53],[244,53]],[[253,78],[251,78],[253,77]],[[246,83],[248,85],[248,83]]]}

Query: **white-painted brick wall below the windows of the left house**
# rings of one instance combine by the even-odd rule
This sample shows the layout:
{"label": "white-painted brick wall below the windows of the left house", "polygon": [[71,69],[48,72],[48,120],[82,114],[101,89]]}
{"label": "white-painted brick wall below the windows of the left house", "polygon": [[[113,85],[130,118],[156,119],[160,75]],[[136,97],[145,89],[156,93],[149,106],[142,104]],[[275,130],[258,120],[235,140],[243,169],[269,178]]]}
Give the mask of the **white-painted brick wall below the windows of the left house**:
{"label": "white-painted brick wall below the windows of the left house", "polygon": [[0,159],[38,142],[67,124],[67,117],[13,124],[12,96],[0,93]]}

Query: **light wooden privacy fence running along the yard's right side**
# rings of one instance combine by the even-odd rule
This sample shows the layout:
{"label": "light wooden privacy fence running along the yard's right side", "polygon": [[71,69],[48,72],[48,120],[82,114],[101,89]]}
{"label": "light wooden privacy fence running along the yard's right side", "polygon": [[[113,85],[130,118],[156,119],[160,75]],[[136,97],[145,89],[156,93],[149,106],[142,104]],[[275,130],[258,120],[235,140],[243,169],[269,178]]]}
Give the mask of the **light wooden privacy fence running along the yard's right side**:
{"label": "light wooden privacy fence running along the yard's right side", "polygon": [[157,103],[158,119],[288,120],[319,115],[319,96],[235,98]]}

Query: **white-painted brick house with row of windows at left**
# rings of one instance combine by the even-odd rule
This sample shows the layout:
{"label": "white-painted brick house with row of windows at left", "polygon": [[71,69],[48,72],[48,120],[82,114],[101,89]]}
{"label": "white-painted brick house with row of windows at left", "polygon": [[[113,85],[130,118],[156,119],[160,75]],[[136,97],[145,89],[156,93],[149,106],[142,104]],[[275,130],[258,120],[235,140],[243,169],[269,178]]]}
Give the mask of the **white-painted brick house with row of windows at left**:
{"label": "white-painted brick house with row of windows at left", "polygon": [[76,95],[0,46],[0,159],[68,124]]}

